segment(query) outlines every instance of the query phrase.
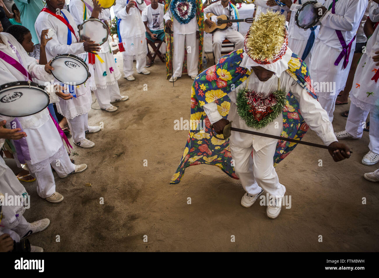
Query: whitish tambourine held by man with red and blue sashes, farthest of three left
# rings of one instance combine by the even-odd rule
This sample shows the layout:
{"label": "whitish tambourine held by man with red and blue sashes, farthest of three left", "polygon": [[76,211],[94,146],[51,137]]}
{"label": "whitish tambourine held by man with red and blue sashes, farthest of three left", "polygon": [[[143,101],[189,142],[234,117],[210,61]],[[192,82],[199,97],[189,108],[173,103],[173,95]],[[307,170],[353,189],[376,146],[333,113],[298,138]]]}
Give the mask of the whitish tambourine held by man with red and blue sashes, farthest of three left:
{"label": "whitish tambourine held by man with red and blue sashes, farthest of three left", "polygon": [[100,45],[108,40],[108,27],[99,19],[87,19],[79,26],[81,40],[93,40]]}

